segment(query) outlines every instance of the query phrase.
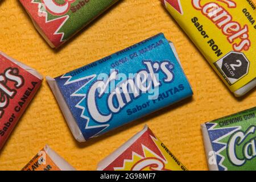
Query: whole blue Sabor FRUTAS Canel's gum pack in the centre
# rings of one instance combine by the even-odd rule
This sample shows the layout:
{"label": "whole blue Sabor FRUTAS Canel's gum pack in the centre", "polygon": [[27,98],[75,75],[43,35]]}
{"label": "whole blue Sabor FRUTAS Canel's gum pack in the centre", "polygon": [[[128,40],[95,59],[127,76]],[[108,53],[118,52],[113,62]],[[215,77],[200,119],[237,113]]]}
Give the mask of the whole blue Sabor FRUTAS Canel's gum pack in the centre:
{"label": "whole blue Sabor FRUTAS Canel's gum pack in the centre", "polygon": [[79,142],[193,94],[163,34],[47,81]]}

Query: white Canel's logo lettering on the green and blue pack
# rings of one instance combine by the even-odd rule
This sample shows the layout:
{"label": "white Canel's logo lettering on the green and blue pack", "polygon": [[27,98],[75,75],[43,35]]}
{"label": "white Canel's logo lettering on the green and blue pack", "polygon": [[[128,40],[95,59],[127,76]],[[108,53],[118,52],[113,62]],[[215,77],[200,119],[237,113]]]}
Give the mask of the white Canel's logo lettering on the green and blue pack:
{"label": "white Canel's logo lettering on the green and blue pack", "polygon": [[230,162],[243,166],[256,157],[256,126],[251,126],[245,133],[237,131],[230,137],[227,152]]}

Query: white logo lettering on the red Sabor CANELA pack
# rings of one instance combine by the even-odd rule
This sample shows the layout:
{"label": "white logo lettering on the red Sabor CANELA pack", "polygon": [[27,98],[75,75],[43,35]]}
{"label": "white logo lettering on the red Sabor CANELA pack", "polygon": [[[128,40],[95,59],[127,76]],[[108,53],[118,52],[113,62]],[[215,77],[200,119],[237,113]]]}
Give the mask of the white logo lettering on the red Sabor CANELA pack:
{"label": "white logo lettering on the red Sabor CANELA pack", "polygon": [[[13,88],[10,88],[13,82]],[[10,99],[16,95],[16,89],[19,89],[24,84],[24,78],[19,75],[19,69],[7,68],[4,73],[0,75],[0,118],[5,113],[5,108],[8,107]],[[8,86],[9,85],[9,86]]]}

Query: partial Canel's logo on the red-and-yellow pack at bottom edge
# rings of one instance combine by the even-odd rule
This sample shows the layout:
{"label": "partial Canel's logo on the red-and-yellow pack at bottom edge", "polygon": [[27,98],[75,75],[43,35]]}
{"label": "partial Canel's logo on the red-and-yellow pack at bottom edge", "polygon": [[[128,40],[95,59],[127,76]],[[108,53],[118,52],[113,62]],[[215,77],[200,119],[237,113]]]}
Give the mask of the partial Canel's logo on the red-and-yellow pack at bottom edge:
{"label": "partial Canel's logo on the red-and-yellow pack at bottom edge", "polygon": [[139,160],[131,168],[131,171],[143,171],[145,168],[150,168],[151,171],[170,171],[165,168],[165,164],[158,158],[144,158]]}

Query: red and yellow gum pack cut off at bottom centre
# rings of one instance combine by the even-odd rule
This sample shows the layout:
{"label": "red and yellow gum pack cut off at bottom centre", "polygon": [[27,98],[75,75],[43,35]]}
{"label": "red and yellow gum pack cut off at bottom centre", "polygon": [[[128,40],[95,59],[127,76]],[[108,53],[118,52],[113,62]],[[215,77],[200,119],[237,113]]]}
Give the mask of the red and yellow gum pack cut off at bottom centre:
{"label": "red and yellow gum pack cut off at bottom centre", "polygon": [[103,159],[97,170],[188,171],[147,126]]}

